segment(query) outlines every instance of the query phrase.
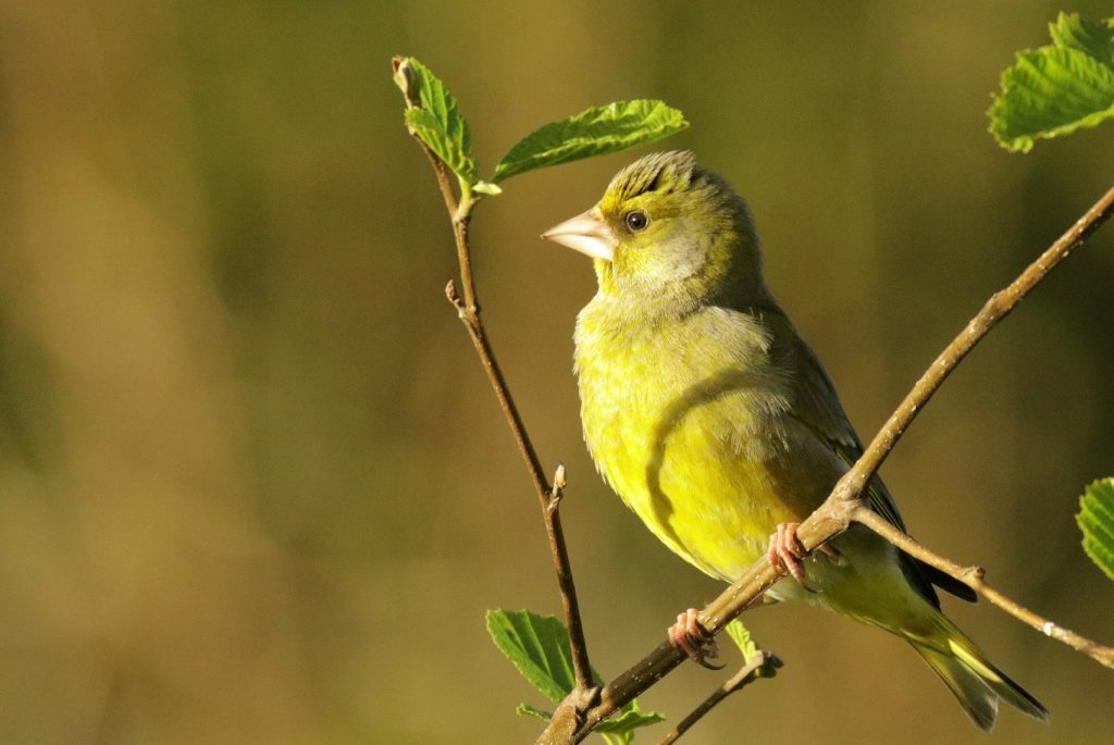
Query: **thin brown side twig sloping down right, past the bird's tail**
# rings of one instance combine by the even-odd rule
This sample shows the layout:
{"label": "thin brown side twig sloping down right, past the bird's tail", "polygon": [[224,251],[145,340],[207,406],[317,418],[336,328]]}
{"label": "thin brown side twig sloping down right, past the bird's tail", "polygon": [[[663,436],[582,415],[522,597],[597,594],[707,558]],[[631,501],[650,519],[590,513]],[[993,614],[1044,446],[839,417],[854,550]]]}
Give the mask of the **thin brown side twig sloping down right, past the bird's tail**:
{"label": "thin brown side twig sloping down right, past the bird's tail", "polygon": [[1081,636],[1071,629],[1048,620],[1044,616],[1038,616],[1013,598],[994,589],[984,580],[986,570],[983,567],[962,567],[950,559],[930,551],[908,535],[895,528],[892,523],[873,510],[866,508],[856,510],[854,521],[870,528],[909,556],[920,559],[925,563],[929,563],[940,571],[955,577],[1026,626],[1030,626],[1057,641],[1063,641],[1101,665],[1114,668],[1114,647],[1106,647],[1097,641],[1092,641],[1085,636]]}

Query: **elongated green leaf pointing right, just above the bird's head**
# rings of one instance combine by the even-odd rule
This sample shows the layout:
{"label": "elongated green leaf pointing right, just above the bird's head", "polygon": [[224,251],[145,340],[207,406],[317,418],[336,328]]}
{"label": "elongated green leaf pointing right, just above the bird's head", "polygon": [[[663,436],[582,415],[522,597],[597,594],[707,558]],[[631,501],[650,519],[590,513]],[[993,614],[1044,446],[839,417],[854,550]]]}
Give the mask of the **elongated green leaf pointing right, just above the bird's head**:
{"label": "elongated green leaf pointing right, just above the bird's head", "polygon": [[551,121],[521,139],[495,169],[495,182],[594,155],[625,150],[685,129],[684,115],[662,101],[616,101]]}

